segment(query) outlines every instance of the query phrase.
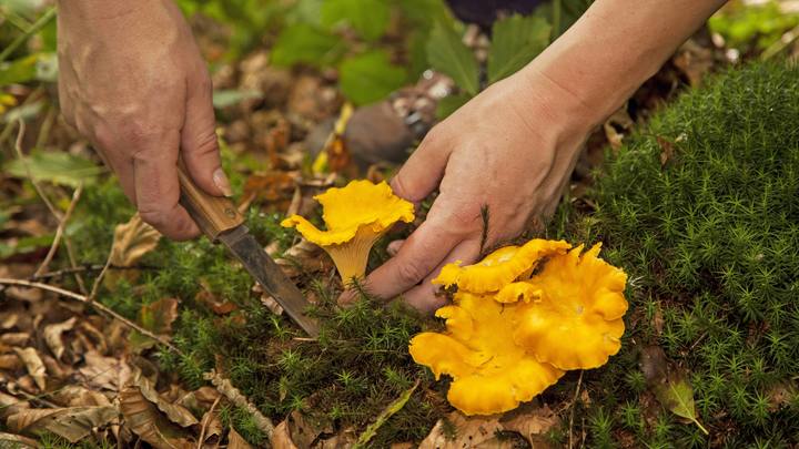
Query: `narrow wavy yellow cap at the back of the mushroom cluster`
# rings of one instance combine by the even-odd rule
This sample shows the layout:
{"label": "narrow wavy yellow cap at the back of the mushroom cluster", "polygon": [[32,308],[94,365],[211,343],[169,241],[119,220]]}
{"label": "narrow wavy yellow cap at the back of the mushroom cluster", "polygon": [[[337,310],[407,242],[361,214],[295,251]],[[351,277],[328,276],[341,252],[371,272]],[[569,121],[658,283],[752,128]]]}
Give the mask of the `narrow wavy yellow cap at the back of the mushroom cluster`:
{"label": "narrow wavy yellow cap at the back of the mushroom cluster", "polygon": [[565,254],[572,245],[564,241],[535,238],[523,246],[505,246],[483,261],[468,266],[461,262],[445,265],[433,284],[452,286],[471,293],[498,292],[507,284],[530,273],[538,262],[548,256]]}

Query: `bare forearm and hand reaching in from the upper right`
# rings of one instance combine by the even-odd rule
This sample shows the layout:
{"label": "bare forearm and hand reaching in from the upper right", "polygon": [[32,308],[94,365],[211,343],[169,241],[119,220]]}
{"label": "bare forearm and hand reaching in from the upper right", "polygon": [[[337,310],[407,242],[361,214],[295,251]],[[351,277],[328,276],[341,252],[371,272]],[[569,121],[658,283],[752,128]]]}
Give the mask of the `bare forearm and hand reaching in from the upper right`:
{"label": "bare forearm and hand reaching in from the upper right", "polygon": [[[488,207],[487,247],[550,216],[589,132],[620,108],[722,0],[597,0],[514,75],[436,125],[392,181],[426,221],[366,277],[373,295],[423,312],[445,304],[431,284],[442,266],[474,263]],[[345,292],[340,303],[354,299]]]}

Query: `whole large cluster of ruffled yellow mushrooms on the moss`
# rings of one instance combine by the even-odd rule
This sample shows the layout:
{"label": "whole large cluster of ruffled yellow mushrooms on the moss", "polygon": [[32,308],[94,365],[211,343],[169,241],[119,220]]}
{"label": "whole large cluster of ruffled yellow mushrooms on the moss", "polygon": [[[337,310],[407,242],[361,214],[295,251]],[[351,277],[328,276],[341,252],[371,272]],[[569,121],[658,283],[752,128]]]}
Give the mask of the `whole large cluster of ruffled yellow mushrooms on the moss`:
{"label": "whole large cluster of ruffled yellow mushrooms on the moss", "polygon": [[417,335],[409,351],[436,379],[453,377],[453,406],[466,415],[510,410],[564,370],[596,368],[619,350],[627,276],[598,257],[600,245],[581,256],[581,245],[569,247],[507,246],[475,265],[449,264],[434,280],[458,287],[454,305],[436,314],[447,330]]}

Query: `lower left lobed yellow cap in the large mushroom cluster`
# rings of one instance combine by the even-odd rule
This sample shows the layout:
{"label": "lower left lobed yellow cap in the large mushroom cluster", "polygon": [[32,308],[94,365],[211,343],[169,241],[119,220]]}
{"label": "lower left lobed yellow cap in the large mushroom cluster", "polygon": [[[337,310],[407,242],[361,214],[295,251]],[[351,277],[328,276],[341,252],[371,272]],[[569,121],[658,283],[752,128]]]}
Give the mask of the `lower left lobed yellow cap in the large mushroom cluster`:
{"label": "lower left lobed yellow cap in the large mushroom cluster", "polygon": [[457,293],[442,307],[447,331],[423,333],[411,340],[417,364],[453,377],[449,404],[466,415],[492,415],[516,408],[555,384],[564,371],[538,361],[515,344],[508,317],[524,305],[499,304],[490,296]]}

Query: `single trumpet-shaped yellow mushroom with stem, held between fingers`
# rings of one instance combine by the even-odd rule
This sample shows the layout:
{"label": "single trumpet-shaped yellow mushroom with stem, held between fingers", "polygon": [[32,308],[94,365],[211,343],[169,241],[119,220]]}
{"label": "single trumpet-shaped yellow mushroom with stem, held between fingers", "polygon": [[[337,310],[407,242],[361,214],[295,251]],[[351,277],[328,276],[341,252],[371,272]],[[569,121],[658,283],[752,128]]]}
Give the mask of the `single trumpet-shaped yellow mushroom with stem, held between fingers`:
{"label": "single trumpet-shaped yellow mushroom with stem, held between fingers", "polygon": [[281,225],[295,227],[307,241],[331,256],[345,284],[366,272],[372,245],[396,222],[414,220],[412,203],[394,195],[388,184],[352,181],[342,188],[328,188],[314,196],[322,204],[326,231],[318,229],[300,215]]}

